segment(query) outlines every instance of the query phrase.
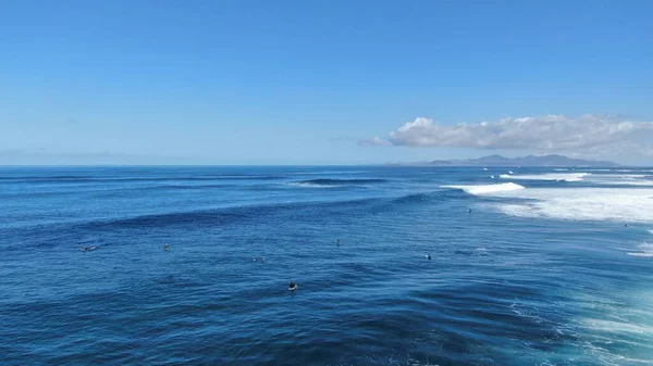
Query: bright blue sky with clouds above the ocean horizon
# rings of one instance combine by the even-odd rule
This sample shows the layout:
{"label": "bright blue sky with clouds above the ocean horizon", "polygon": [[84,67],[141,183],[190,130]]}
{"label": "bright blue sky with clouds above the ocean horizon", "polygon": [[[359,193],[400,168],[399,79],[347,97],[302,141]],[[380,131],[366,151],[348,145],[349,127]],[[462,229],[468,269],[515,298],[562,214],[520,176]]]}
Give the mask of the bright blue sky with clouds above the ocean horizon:
{"label": "bright blue sky with clouds above the ocean horizon", "polygon": [[[554,150],[645,163],[652,13],[650,1],[5,0],[0,164],[357,164]],[[554,118],[559,134],[547,143],[505,143],[520,138],[523,117],[551,130],[551,114],[566,117],[563,127]],[[418,117],[433,122],[399,131]],[[473,129],[481,122],[497,125]],[[469,124],[465,141],[459,123]],[[636,125],[600,138],[619,123]],[[582,141],[562,141],[568,129]]]}

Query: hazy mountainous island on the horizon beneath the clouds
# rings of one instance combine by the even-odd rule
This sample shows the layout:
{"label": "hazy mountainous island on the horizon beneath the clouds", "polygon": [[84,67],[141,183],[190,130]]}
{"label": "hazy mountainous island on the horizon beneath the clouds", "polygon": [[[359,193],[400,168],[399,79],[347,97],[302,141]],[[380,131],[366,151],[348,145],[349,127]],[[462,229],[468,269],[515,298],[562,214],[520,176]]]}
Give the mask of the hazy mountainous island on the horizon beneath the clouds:
{"label": "hazy mountainous island on the horizon beneath the clouds", "polygon": [[615,162],[572,159],[557,154],[542,156],[505,157],[489,155],[466,160],[434,160],[417,163],[386,163],[387,166],[619,166]]}

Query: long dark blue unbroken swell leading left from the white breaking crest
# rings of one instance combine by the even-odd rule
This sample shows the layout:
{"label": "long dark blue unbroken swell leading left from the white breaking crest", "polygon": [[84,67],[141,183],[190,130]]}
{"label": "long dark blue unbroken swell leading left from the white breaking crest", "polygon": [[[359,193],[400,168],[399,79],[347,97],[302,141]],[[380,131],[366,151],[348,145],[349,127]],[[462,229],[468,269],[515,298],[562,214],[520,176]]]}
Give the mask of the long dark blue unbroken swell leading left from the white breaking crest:
{"label": "long dark blue unbroken swell leading left from the white breaking crest", "polygon": [[[114,194],[113,193],[109,193]],[[346,201],[299,201],[287,203],[269,203],[254,205],[236,205],[210,210],[168,211],[163,214],[146,214],[134,217],[111,219],[75,219],[61,223],[44,223],[20,228],[2,228],[0,234],[8,239],[15,238],[13,245],[3,247],[2,251],[22,251],[32,245],[52,248],[66,236],[73,240],[67,245],[90,245],[98,241],[85,238],[89,232],[111,232],[125,230],[160,230],[165,229],[221,229],[234,226],[274,225],[274,223],[319,223],[325,219],[335,220],[341,217],[352,220],[352,213],[358,217],[379,215],[384,212],[405,211],[404,206],[428,205],[447,200],[467,200],[468,194],[459,191],[443,190],[431,193],[407,194],[401,198],[365,198]],[[27,243],[27,244],[26,244]],[[101,244],[102,242],[100,242]]]}

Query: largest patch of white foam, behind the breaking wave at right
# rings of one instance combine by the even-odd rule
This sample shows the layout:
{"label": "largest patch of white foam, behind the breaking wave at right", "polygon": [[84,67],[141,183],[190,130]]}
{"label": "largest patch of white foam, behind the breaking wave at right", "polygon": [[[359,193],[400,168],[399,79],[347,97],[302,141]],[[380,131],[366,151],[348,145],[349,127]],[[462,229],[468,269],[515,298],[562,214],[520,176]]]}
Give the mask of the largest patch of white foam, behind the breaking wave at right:
{"label": "largest patch of white foam, behind the breaking wave at right", "polygon": [[517,202],[490,204],[493,209],[512,216],[653,223],[653,189],[531,188],[485,193],[522,199]]}

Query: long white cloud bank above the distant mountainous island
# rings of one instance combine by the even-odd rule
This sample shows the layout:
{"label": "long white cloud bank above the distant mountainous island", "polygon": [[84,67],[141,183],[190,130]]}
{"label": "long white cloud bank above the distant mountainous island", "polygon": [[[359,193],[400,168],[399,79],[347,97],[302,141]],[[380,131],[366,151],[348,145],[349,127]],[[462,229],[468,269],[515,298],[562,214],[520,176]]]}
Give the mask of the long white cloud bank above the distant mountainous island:
{"label": "long white cloud bank above the distant mountainous island", "polygon": [[390,134],[395,146],[531,150],[577,154],[653,154],[653,122],[604,115],[544,115],[496,122],[442,125],[407,122]]}

